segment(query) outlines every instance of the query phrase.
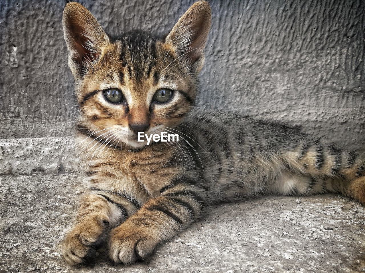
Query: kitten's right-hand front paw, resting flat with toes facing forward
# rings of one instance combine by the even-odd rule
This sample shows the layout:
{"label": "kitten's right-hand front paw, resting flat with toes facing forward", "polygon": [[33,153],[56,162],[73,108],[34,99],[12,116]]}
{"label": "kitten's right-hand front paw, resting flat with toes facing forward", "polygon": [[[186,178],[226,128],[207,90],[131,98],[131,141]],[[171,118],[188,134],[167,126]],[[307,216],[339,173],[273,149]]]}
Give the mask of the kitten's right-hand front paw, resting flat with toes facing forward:
{"label": "kitten's right-hand front paw, resting flat with toes facing forward", "polygon": [[123,223],[110,233],[109,256],[115,262],[133,264],[147,258],[158,244],[153,231]]}

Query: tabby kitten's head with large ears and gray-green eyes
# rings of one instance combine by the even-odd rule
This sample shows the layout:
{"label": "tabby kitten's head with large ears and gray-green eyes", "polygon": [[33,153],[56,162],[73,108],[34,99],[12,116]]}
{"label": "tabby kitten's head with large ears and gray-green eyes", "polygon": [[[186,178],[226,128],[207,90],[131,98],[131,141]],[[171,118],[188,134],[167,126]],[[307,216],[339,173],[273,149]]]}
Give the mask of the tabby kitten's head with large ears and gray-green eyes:
{"label": "tabby kitten's head with large ears and gray-green eyes", "polygon": [[193,4],[164,36],[105,33],[81,4],[66,4],[63,27],[83,126],[103,139],[142,147],[138,131],[180,123],[197,99],[211,24],[207,1]]}

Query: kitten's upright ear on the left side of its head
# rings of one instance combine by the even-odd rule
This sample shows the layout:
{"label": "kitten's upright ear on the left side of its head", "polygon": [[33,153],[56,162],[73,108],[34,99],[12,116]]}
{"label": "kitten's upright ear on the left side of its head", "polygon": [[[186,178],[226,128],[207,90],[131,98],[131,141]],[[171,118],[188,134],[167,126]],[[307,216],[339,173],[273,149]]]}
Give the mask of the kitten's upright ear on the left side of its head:
{"label": "kitten's upright ear on the left side of its head", "polygon": [[109,37],[95,17],[83,5],[67,3],[62,16],[64,36],[69,50],[69,66],[79,79],[97,62]]}

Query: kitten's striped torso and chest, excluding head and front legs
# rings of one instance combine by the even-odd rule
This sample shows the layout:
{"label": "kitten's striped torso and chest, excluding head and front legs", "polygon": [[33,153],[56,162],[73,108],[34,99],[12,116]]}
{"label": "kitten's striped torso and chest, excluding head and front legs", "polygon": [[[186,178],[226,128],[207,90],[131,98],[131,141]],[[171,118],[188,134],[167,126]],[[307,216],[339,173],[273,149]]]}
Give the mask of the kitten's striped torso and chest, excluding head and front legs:
{"label": "kitten's striped torso and chest, excluding head and front legs", "polygon": [[202,190],[209,205],[258,194],[342,192],[340,178],[351,171],[356,178],[361,166],[356,153],[322,144],[296,128],[230,112],[195,110],[168,130],[180,141],[134,151],[100,146],[105,139],[93,140],[91,132],[78,130],[91,187],[124,193],[143,205],[181,180],[193,186],[189,190]]}

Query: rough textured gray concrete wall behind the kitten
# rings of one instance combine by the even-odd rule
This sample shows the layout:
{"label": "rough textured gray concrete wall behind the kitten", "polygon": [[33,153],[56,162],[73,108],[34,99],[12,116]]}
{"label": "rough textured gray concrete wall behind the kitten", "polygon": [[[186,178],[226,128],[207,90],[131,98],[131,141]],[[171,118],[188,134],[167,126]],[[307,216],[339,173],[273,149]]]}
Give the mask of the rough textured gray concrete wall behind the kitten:
{"label": "rough textured gray concrete wall behind the kitten", "polygon": [[[168,31],[194,2],[82,0],[108,32]],[[365,152],[365,1],[211,0],[201,104]],[[63,1],[0,0],[0,174],[77,170]]]}

